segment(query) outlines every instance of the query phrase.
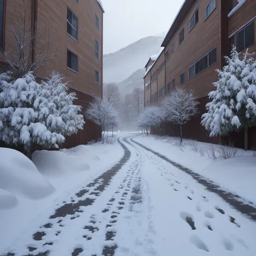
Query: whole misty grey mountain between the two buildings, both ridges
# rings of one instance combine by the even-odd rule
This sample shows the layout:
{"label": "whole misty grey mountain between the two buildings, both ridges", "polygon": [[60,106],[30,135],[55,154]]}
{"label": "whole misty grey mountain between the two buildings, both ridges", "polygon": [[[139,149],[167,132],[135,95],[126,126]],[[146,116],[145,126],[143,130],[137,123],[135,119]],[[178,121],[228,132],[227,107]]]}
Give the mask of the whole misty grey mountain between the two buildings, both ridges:
{"label": "whole misty grey mountain between the two buildings, both ridges", "polygon": [[159,52],[163,39],[161,36],[145,37],[119,51],[104,55],[103,82],[122,82],[120,86],[124,86],[124,80],[129,80],[129,83],[133,83],[130,79],[131,77],[134,77],[138,82],[138,74],[141,75],[143,73],[142,69],[144,69],[149,57]]}

